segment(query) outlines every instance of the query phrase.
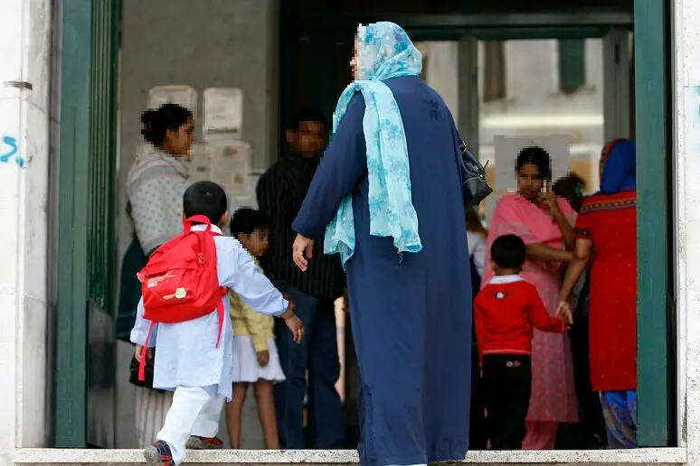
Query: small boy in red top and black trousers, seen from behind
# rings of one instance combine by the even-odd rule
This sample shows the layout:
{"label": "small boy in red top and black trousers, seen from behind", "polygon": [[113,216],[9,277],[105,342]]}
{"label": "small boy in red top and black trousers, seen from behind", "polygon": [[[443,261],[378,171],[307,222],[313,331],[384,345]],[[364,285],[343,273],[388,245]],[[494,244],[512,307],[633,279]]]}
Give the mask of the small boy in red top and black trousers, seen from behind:
{"label": "small boy in red top and black trousers, seen from behind", "polygon": [[520,275],[525,243],[516,235],[496,238],[491,267],[496,276],[474,301],[479,361],[483,369],[491,450],[520,450],[532,386],[533,327],[563,332],[570,312],[551,317],[533,284]]}

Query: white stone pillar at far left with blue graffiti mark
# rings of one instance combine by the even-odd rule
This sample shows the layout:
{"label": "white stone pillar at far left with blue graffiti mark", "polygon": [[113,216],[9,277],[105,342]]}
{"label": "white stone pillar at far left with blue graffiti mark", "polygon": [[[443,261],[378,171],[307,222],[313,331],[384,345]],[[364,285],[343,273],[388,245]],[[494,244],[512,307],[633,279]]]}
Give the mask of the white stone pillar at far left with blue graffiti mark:
{"label": "white stone pillar at far left with blue graffiti mark", "polygon": [[0,2],[0,464],[46,444],[51,4]]}

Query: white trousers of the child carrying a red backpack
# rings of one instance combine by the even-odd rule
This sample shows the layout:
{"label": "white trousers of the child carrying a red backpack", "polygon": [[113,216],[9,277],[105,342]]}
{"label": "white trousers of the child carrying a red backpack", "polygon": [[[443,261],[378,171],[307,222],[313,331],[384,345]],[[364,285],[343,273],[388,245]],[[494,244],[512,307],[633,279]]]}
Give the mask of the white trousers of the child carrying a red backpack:
{"label": "white trousers of the child carrying a red backpack", "polygon": [[217,385],[175,388],[166,424],[156,435],[170,447],[175,464],[184,461],[184,445],[190,435],[215,437],[219,432],[225,398],[218,395],[218,390]]}

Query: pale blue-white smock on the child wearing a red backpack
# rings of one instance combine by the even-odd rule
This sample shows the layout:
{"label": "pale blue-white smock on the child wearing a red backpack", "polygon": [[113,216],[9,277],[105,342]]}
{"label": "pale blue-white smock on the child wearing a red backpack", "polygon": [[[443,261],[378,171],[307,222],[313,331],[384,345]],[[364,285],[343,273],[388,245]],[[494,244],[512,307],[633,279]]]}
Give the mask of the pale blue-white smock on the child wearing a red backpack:
{"label": "pale blue-white smock on the child wearing a red backpack", "polygon": [[[195,225],[193,230],[203,230]],[[221,230],[212,227],[221,233]],[[235,238],[217,236],[216,266],[219,284],[227,286],[257,312],[279,316],[289,303],[260,273],[251,255]],[[216,310],[194,319],[178,323],[159,323],[151,331],[149,347],[156,347],[153,387],[175,390],[175,387],[219,386],[219,394],[231,399],[233,332],[229,297],[223,297],[224,314],[222,340],[216,347],[219,316]],[[131,342],[145,345],[151,322],[143,317],[143,298],[138,303],[137,321],[131,331]]]}

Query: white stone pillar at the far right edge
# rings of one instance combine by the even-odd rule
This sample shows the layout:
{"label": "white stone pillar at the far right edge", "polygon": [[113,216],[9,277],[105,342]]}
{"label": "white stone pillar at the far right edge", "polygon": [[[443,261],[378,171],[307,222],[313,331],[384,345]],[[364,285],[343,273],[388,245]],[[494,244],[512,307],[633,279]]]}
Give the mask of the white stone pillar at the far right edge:
{"label": "white stone pillar at the far right edge", "polygon": [[678,413],[689,464],[700,464],[700,2],[674,1]]}

